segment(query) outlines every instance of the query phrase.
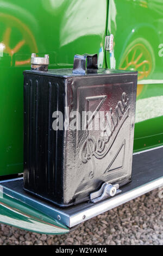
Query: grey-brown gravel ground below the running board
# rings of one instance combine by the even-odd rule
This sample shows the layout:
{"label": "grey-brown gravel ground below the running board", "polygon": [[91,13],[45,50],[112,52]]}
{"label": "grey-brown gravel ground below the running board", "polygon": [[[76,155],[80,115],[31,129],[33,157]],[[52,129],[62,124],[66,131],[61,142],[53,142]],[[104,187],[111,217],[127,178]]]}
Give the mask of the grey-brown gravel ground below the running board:
{"label": "grey-brown gravel ground below the running board", "polygon": [[154,190],[92,218],[66,235],[0,225],[0,245],[163,245],[163,204]]}

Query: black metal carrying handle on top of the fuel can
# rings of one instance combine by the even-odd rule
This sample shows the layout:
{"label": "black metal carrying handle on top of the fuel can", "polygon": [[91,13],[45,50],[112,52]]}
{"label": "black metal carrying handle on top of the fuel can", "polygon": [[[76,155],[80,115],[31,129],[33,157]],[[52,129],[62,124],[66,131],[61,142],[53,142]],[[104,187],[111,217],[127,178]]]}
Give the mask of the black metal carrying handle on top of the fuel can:
{"label": "black metal carrying handle on top of the fuel can", "polygon": [[74,56],[73,74],[84,75],[97,72],[97,54],[83,54]]}

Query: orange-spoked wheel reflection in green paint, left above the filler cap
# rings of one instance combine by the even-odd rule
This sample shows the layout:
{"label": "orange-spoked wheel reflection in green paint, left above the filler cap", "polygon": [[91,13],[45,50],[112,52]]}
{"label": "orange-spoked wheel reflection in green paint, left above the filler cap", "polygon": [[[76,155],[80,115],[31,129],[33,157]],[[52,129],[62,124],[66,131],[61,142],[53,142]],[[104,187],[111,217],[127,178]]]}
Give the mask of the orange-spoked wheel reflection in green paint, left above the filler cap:
{"label": "orange-spoked wheel reflection in green paint, left above the filler cap", "polygon": [[13,58],[15,66],[30,63],[29,54],[37,52],[36,42],[30,29],[9,14],[0,13],[0,21],[0,42],[5,45],[4,52],[11,57],[11,65],[13,65]]}

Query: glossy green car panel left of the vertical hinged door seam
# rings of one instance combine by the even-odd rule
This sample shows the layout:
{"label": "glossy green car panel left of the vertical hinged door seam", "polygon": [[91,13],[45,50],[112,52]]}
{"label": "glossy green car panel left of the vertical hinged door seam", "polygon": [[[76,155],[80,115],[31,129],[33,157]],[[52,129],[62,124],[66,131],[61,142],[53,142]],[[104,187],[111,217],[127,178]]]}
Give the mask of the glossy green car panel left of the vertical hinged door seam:
{"label": "glossy green car panel left of the vertical hinged door seam", "polygon": [[106,13],[106,0],[0,1],[0,175],[23,170],[22,72],[31,53],[49,54],[49,68],[71,67],[76,53],[98,53],[104,66]]}

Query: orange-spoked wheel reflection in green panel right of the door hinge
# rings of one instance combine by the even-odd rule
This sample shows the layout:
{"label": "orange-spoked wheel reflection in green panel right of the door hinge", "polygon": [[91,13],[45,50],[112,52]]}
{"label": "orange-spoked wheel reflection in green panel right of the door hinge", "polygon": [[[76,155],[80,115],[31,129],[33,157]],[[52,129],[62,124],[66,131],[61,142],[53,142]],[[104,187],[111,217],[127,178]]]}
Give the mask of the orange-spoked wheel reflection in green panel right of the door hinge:
{"label": "orange-spoked wheel reflection in green panel right of the door hinge", "polygon": [[[152,46],[146,39],[137,38],[124,52],[119,69],[139,71],[138,80],[146,79],[155,68]],[[142,92],[143,84],[137,86],[137,96]]]}

